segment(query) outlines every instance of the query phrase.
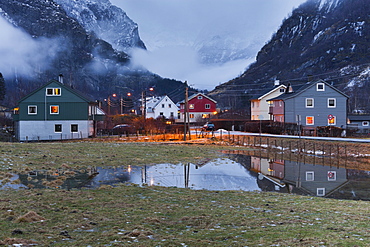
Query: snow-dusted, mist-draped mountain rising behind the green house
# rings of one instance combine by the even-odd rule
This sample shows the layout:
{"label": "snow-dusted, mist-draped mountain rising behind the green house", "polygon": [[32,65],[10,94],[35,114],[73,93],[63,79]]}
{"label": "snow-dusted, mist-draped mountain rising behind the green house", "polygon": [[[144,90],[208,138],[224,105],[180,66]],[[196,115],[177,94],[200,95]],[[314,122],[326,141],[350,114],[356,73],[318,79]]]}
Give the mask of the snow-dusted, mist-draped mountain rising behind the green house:
{"label": "snow-dusted, mist-draped mountain rising behind the green house", "polygon": [[130,67],[128,51],[145,45],[137,24],[109,0],[1,1],[1,25],[0,72],[9,106],[60,73],[65,83],[99,100],[128,91],[139,98],[156,85],[162,85],[158,94],[185,86]]}

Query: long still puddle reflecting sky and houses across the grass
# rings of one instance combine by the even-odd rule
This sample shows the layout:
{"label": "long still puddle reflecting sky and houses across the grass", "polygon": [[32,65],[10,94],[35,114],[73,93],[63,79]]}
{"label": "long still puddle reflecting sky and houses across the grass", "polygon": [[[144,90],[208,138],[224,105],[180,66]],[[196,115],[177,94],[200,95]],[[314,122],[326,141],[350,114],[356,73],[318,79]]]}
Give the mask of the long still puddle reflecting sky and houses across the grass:
{"label": "long still puddle reflecting sky and houses across the grass", "polygon": [[82,171],[16,174],[5,188],[98,188],[134,183],[206,190],[275,191],[337,199],[370,200],[370,171],[227,155],[201,166],[157,164]]}

